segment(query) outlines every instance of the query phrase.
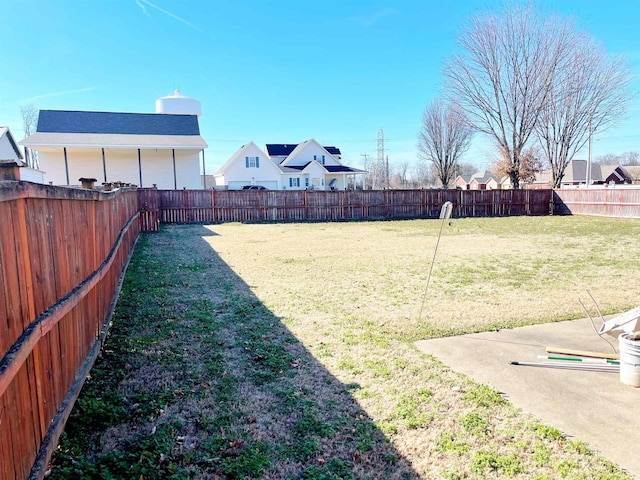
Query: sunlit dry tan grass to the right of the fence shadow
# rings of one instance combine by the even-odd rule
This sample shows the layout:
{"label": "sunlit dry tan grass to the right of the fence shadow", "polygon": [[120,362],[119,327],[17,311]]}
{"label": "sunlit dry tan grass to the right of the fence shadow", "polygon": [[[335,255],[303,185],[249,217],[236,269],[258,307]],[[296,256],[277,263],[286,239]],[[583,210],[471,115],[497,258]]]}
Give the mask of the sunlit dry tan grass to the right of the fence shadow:
{"label": "sunlit dry tan grass to the right of the fence shadow", "polygon": [[[539,446],[550,452],[544,465],[532,462],[536,442],[548,439],[536,438],[526,427],[531,420],[508,407],[481,411],[484,434],[460,433],[461,419],[478,408],[464,400],[474,387],[411,341],[579,317],[577,299],[586,300],[587,289],[603,311],[634,305],[637,290],[629,286],[640,280],[631,260],[640,253],[640,224],[455,220],[443,231],[425,296],[440,225],[231,224],[207,227],[214,235],[205,239],[324,368],[359,386],[354,397],[422,478],[472,474],[473,453],[437,447],[446,432],[464,438],[467,452],[516,452],[526,465],[516,475],[522,478],[558,476],[554,461],[563,457],[599,478],[591,457],[575,459],[553,442]],[[413,411],[403,412],[403,402]]]}

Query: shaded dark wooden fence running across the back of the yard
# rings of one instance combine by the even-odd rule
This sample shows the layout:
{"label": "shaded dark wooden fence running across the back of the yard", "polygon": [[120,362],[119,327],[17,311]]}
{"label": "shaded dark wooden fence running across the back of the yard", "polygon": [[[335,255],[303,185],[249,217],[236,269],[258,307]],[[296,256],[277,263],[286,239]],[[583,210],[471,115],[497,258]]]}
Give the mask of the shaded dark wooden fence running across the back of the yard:
{"label": "shaded dark wooden fence running across the back of the yard", "polygon": [[457,217],[548,215],[551,190],[155,190],[140,189],[145,231],[160,223],[435,218],[444,202]]}

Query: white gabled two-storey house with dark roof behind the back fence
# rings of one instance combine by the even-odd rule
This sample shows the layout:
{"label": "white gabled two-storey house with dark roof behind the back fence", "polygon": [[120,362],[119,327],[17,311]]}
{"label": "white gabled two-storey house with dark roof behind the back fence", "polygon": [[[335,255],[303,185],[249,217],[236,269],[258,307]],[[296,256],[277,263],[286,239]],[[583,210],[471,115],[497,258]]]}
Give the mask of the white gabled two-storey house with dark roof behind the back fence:
{"label": "white gabled two-storey house with dark roof behind the back fence", "polygon": [[248,185],[270,190],[362,188],[366,171],[343,165],[341,160],[339,148],[322,146],[314,139],[267,144],[266,151],[249,142],[216,172],[216,186],[229,190]]}

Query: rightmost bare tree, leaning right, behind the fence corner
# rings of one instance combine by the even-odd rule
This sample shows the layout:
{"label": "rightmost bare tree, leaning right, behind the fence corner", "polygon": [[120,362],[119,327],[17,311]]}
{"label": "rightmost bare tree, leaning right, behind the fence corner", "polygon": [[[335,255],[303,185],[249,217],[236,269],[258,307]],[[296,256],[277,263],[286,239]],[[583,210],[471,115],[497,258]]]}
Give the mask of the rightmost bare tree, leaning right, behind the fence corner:
{"label": "rightmost bare tree, leaning right, behind the fence corner", "polygon": [[536,133],[559,188],[567,165],[589,137],[624,115],[631,75],[621,57],[608,58],[586,34],[576,34],[560,59]]}

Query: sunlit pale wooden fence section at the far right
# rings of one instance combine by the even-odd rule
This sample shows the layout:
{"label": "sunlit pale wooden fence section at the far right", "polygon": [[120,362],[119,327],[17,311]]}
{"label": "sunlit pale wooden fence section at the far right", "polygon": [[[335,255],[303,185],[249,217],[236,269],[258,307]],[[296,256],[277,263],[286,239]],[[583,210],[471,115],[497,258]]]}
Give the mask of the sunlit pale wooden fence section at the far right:
{"label": "sunlit pale wooden fence section at the far right", "polygon": [[640,188],[567,188],[553,195],[558,215],[640,218]]}

